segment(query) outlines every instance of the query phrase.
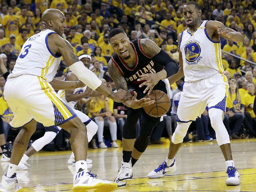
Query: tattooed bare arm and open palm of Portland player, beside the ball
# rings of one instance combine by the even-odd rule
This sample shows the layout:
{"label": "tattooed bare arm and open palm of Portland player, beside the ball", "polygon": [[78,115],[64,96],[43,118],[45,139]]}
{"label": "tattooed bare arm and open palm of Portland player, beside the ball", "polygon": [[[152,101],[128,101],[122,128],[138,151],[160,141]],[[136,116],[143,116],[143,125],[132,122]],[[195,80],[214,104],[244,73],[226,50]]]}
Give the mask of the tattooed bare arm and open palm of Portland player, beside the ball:
{"label": "tattooed bare arm and open palm of Portland player, beside the ball", "polygon": [[[108,73],[115,83],[116,90],[124,89],[128,93],[127,82],[122,76],[122,74],[119,72],[115,64],[112,62],[112,60],[109,60],[108,62]],[[137,100],[136,97],[137,97],[137,93],[134,92],[134,96],[132,97],[132,99],[127,100],[123,103],[126,106],[131,107],[133,109],[138,109],[154,103],[154,101],[152,101],[150,98],[147,98],[147,99],[142,98],[140,100]]]}

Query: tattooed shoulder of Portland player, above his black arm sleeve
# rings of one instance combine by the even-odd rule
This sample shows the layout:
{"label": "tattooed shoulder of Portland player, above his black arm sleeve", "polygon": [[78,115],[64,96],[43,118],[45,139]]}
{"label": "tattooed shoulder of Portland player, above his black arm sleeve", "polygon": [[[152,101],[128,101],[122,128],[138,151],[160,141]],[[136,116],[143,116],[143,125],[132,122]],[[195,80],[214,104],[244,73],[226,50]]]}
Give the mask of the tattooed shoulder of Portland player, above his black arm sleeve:
{"label": "tattooed shoulder of Portland player, above his black arm sleeve", "polygon": [[161,51],[160,47],[150,39],[140,40],[141,49],[148,54],[150,57],[154,57],[157,53]]}

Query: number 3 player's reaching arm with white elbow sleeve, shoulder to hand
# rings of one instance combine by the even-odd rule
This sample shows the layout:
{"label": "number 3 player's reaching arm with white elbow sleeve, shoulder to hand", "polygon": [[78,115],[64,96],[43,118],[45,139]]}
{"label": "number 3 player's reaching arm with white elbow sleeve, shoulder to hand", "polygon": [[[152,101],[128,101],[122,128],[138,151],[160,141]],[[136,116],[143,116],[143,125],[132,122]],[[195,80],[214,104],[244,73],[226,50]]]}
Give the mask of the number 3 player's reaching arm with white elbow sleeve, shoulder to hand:
{"label": "number 3 player's reaching arm with white elbow sleeve, shoulder to hand", "polygon": [[108,89],[108,87],[76,57],[71,44],[66,39],[63,39],[56,33],[52,33],[48,36],[48,45],[52,53],[60,53],[63,56],[69,69],[91,89],[100,92],[102,95],[116,102],[123,102],[132,98],[131,94],[128,94],[125,90],[120,89],[118,92],[114,93],[112,90]]}

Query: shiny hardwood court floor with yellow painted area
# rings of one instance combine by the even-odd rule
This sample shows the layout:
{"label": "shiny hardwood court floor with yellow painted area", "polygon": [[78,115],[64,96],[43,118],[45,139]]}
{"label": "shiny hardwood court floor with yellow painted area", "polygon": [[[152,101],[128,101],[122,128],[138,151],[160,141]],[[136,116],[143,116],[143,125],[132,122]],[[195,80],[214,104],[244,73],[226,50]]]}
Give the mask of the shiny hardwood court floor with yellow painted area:
{"label": "shiny hardwood court floor with yellow painted area", "polygon": [[[256,139],[232,140],[233,159],[239,169],[240,186],[226,186],[225,161],[215,142],[183,144],[176,156],[177,171],[160,179],[147,174],[165,160],[169,145],[148,146],[133,168],[133,180],[116,192],[186,191],[186,192],[256,192]],[[29,170],[17,171],[25,192],[72,191],[74,165],[68,165],[71,152],[39,152],[28,160]],[[122,160],[122,148],[89,150],[92,172],[98,178],[114,180]],[[0,174],[8,162],[0,162]]]}

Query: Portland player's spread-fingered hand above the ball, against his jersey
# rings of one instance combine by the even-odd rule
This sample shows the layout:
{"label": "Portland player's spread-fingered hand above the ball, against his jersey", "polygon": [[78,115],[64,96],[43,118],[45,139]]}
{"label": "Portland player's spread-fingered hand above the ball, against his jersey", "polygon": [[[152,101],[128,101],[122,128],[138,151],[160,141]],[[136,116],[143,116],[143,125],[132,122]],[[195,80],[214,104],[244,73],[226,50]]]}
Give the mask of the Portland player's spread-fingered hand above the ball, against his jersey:
{"label": "Portland player's spread-fingered hand above the ball, against his jersey", "polygon": [[156,77],[156,74],[151,74],[151,73],[147,73],[144,75],[140,75],[139,77],[141,77],[140,79],[138,79],[137,81],[143,81],[146,80],[145,82],[141,83],[139,87],[142,87],[144,85],[147,85],[148,87],[143,91],[143,93],[146,93],[148,91],[148,94],[153,90],[153,88],[155,87],[155,85],[159,82],[159,79]]}

